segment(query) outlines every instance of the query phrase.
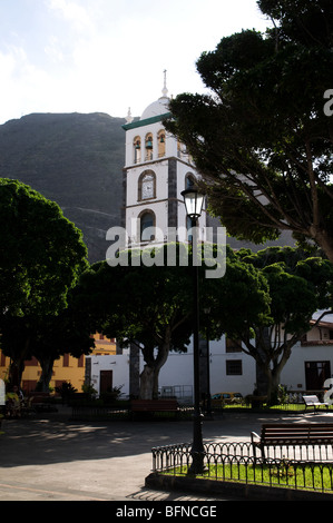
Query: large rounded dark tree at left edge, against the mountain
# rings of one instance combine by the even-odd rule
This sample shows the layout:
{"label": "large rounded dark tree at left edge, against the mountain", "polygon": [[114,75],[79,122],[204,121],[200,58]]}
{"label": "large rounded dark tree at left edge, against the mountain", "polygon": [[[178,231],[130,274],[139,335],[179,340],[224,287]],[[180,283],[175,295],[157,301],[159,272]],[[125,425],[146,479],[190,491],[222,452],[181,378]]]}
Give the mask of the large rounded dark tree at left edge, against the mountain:
{"label": "large rounded dark tree at left edge, against the mountain", "polygon": [[1,178],[0,203],[0,330],[2,346],[11,333],[6,354],[20,381],[33,325],[67,307],[68,292],[88,265],[87,248],[59,206],[25,184]]}

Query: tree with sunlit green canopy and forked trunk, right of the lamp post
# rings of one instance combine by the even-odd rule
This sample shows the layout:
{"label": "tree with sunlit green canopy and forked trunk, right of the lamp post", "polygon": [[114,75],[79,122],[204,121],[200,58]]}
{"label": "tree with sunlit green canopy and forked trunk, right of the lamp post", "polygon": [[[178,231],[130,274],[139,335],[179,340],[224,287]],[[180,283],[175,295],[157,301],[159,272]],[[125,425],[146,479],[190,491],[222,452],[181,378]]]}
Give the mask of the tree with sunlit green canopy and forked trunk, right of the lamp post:
{"label": "tree with sunlit green canopy and forked trunk, right of the lamp post", "polygon": [[[320,257],[306,258],[304,253],[291,247],[268,248],[257,254],[241,249],[234,256],[243,267],[258,270],[264,278],[270,296],[268,312],[254,320],[248,320],[243,310],[239,314],[238,300],[245,300],[245,310],[251,310],[252,295],[248,289],[237,287],[237,278],[227,268],[219,283],[214,315],[216,320],[221,318],[221,334],[239,341],[239,348],[262,368],[267,378],[268,401],[274,403],[282,369],[293,346],[312,328],[313,314],[319,309],[331,312],[333,265]],[[226,286],[227,294],[224,293]]]}

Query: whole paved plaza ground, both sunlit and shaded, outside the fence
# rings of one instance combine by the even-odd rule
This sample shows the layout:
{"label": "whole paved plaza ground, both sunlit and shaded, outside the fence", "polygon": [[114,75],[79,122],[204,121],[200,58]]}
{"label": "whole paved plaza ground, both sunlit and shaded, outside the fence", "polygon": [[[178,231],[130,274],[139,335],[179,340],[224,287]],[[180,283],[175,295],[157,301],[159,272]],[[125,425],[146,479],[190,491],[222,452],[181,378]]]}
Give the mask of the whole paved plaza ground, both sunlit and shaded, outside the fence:
{"label": "whole paved plaza ground, both sunlit and shaded, outside the fence", "polygon": [[[70,409],[4,421],[0,501],[229,501],[145,487],[151,447],[192,441],[192,422],[74,422]],[[226,413],[204,422],[205,441],[249,441],[263,423],[333,421],[333,414]]]}

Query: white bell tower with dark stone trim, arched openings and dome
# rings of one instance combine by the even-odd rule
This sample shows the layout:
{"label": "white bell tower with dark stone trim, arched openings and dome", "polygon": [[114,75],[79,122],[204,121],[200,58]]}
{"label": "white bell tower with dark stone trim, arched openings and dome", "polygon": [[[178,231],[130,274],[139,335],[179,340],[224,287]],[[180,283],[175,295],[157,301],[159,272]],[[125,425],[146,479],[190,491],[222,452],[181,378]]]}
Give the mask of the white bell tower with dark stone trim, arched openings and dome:
{"label": "white bell tower with dark stone trim, arched openings and dome", "polygon": [[[135,121],[129,110],[123,126],[126,131],[123,227],[127,247],[174,239],[170,228],[177,230],[179,241],[187,241],[188,224],[180,193],[194,184],[198,174],[185,146],[163,126],[170,115],[166,71],[161,93],[139,120]],[[205,225],[204,210],[199,219],[200,239]]]}

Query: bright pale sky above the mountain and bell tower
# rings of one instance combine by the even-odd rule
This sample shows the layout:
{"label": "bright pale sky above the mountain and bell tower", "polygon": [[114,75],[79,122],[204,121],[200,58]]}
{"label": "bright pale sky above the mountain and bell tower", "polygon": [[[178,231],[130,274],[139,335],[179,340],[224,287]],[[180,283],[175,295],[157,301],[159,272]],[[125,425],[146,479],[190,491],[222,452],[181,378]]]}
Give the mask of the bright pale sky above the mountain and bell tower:
{"label": "bright pale sky above the mountain and bell tower", "polygon": [[204,92],[202,52],[270,22],[256,0],[0,0],[0,124],[31,112],[140,116]]}

